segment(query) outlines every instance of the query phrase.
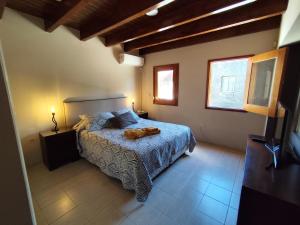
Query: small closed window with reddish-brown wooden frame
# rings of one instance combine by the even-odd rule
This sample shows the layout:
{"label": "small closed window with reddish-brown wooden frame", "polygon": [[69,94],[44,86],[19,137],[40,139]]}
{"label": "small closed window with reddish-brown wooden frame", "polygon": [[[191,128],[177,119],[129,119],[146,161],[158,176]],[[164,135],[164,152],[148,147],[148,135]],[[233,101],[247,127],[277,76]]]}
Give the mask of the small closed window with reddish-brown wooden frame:
{"label": "small closed window with reddish-brown wooden frame", "polygon": [[153,68],[153,103],[178,105],[179,64],[155,66]]}

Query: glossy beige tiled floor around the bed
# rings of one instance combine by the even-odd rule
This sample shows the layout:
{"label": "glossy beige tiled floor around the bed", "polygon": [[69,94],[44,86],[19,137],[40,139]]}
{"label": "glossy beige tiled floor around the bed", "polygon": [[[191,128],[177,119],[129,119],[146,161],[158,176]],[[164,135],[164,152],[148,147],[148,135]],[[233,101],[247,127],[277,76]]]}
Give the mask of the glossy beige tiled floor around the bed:
{"label": "glossy beige tiled floor around the bed", "polygon": [[234,225],[243,166],[238,152],[198,144],[154,180],[144,204],[85,160],[37,165],[29,179],[38,225]]}

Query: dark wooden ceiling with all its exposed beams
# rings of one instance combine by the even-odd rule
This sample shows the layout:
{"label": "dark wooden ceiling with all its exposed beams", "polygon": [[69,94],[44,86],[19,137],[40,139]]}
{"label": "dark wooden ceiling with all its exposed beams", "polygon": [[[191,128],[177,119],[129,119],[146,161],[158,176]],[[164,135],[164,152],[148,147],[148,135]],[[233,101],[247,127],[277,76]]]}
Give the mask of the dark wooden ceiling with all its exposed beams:
{"label": "dark wooden ceiling with all its exposed beams", "polygon": [[[288,0],[0,0],[4,6],[41,17],[45,30],[61,25],[80,31],[86,41],[103,38],[140,54],[178,48],[280,26]],[[156,16],[146,13],[158,9]],[[219,11],[219,12],[218,12]]]}

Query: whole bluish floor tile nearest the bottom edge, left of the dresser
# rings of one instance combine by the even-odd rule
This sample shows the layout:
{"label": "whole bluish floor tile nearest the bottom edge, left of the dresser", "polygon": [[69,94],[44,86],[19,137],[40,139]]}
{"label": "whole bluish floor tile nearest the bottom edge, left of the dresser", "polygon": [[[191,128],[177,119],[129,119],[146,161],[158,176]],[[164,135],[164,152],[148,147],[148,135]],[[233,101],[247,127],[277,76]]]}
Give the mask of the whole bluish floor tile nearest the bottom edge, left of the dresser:
{"label": "whole bluish floor tile nearest the bottom edge, left of the dresser", "polygon": [[226,219],[228,206],[218,202],[217,200],[214,200],[213,198],[204,196],[199,205],[198,210],[212,217],[218,222],[224,223]]}

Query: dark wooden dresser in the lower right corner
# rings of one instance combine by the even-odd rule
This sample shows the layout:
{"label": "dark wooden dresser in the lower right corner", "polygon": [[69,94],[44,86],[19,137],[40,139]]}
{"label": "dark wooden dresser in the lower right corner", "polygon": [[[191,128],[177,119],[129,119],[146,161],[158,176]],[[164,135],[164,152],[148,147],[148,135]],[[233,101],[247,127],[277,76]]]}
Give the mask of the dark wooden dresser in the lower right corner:
{"label": "dark wooden dresser in the lower right corner", "polygon": [[271,154],[248,139],[238,225],[299,225],[300,165],[266,169]]}

